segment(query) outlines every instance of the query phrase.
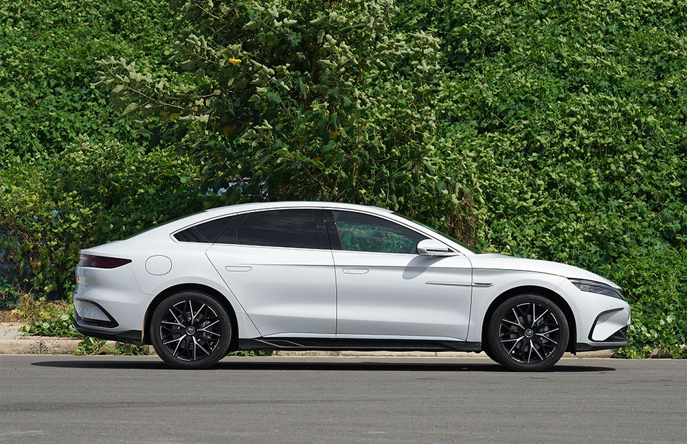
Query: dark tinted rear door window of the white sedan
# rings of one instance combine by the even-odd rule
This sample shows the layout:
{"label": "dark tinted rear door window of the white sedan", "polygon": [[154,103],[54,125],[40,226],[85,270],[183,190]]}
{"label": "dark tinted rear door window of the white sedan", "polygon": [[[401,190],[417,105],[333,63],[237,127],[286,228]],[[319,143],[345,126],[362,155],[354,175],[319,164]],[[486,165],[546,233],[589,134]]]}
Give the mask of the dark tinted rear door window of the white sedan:
{"label": "dark tinted rear door window of the white sedan", "polygon": [[321,209],[258,211],[238,216],[243,222],[227,227],[218,243],[329,248],[324,212]]}

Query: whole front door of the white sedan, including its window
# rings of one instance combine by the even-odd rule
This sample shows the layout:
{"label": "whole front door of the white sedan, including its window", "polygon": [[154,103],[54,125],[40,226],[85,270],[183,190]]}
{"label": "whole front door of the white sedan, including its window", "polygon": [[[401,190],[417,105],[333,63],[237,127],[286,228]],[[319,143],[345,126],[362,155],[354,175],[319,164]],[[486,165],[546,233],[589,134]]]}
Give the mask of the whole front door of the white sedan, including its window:
{"label": "whole front door of the white sedan, including its window", "polygon": [[469,259],[419,256],[427,236],[376,215],[326,215],[335,231],[337,338],[466,339]]}

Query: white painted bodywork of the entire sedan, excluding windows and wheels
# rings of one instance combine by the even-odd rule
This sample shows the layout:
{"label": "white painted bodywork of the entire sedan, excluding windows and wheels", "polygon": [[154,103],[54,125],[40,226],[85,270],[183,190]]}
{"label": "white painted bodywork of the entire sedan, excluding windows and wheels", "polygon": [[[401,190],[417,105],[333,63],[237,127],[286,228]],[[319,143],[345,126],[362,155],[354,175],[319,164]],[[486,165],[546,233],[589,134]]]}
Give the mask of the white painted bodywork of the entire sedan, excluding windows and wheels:
{"label": "white painted bodywork of the entire sedan, excluding windows and wheels", "polygon": [[[420,257],[215,246],[210,256],[219,262],[214,268],[205,255],[209,244],[177,242],[172,237],[188,226],[245,211],[319,207],[348,209],[392,220],[462,255]],[[221,252],[224,248],[234,248],[234,253]],[[548,261],[471,253],[451,239],[386,209],[360,205],[271,202],[221,207],[82,253],[132,260],[131,264],[113,270],[77,270],[74,301],[90,299],[102,305],[120,323],[115,329],[102,329],[108,333],[142,329],[148,306],[157,294],[174,285],[193,283],[210,287],[227,299],[236,312],[241,338],[261,335],[331,338],[336,334],[337,280],[340,323],[337,337],[458,338],[480,342],[488,306],[499,294],[524,285],[556,292],[570,305],[577,325],[577,342],[594,345],[589,341],[589,331],[596,316],[607,309],[620,307],[622,310],[617,317],[602,320],[594,338],[629,323],[627,303],[610,296],[581,292],[565,279],[589,279],[614,285],[594,273]],[[336,267],[333,255],[337,256]],[[150,274],[146,261],[151,256],[168,257],[172,269],[166,274]],[[421,261],[433,262],[431,266],[418,266]],[[471,265],[474,276],[470,275]],[[363,270],[368,271],[363,273]],[[412,277],[413,274],[418,275]],[[492,285],[485,287],[478,283]]]}

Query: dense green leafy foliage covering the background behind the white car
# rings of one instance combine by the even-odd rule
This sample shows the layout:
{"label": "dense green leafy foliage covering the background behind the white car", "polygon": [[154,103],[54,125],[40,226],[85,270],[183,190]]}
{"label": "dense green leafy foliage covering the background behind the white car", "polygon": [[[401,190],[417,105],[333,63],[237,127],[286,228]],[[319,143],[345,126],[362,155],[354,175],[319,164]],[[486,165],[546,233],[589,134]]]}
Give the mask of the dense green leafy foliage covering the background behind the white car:
{"label": "dense green leafy foliage covering the background behind the white car", "polygon": [[[301,20],[317,17],[317,8],[360,16],[354,15],[357,2],[309,3],[309,9],[274,3],[281,21],[289,8]],[[349,70],[369,102],[354,108],[343,103],[342,91],[351,86],[336,82],[346,78],[303,82],[324,85],[313,92],[324,104],[319,114],[312,102],[301,104],[298,95],[278,89],[247,103],[258,86],[269,89],[270,80],[247,83],[240,109],[307,113],[300,120],[293,113],[282,117],[279,137],[243,144],[223,134],[224,126],[182,124],[164,113],[150,113],[144,124],[120,119],[110,105],[124,110],[139,100],[111,95],[116,82],[91,87],[103,77],[97,71],[104,65],[95,61],[112,56],[111,67],[124,58],[119,69],[135,61],[135,72],[166,78],[170,89],[202,90],[212,74],[184,64],[183,57],[170,61],[179,50],[174,42],[183,45],[194,34],[207,36],[211,47],[227,45],[237,32],[212,40],[211,21],[180,20],[182,9],[166,1],[1,5],[3,305],[16,303],[13,288],[21,281],[37,294],[67,298],[79,248],[203,207],[256,199],[258,188],[267,187],[273,199],[392,207],[482,250],[598,272],[622,285],[633,305],[631,345],[621,355],[648,355],[659,345],[684,357],[687,3],[395,4],[398,11],[380,13],[374,38],[401,34],[407,52],[384,53],[384,67],[372,63],[372,52],[362,73]],[[239,14],[233,29],[243,29],[249,15]],[[245,51],[243,65],[236,66],[247,67],[251,57],[264,62],[265,51],[271,53],[268,67],[295,65],[289,51],[273,50],[284,49],[291,34],[269,30],[269,23],[258,22],[262,34],[240,35]],[[308,30],[298,32],[308,36]],[[258,36],[273,36],[271,49],[256,43]],[[307,39],[299,45],[326,50]],[[418,73],[423,61],[429,69]],[[302,80],[305,72],[293,69],[280,80],[295,82],[292,90],[300,94],[295,75]],[[338,123],[343,128],[330,126],[337,113],[348,118]],[[203,150],[184,139],[189,130],[202,135]],[[366,139],[361,143],[351,134]],[[278,149],[275,139],[282,140]],[[253,192],[205,192],[232,178],[223,168],[239,164],[234,178],[256,178]]]}

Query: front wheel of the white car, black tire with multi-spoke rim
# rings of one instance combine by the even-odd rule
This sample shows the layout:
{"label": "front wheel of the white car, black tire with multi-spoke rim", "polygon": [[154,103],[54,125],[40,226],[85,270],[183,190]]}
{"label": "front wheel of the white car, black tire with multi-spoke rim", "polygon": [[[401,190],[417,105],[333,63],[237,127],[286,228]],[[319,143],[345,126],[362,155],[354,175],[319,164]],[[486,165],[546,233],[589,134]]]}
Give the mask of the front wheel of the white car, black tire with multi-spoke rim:
{"label": "front wheel of the white car, black tire with multi-spoke rim", "polygon": [[489,320],[493,360],[515,371],[543,371],[556,364],[570,338],[558,305],[539,294],[519,294],[499,305]]}

